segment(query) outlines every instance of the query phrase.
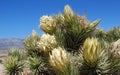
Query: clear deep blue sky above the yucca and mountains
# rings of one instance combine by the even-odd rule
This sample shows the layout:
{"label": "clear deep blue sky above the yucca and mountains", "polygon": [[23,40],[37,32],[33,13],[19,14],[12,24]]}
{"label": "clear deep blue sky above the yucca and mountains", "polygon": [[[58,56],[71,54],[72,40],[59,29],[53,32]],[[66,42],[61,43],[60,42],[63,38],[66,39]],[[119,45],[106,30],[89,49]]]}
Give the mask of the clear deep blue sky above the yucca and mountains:
{"label": "clear deep blue sky above the yucca and mountains", "polygon": [[120,26],[120,0],[0,0],[0,38],[26,38],[33,29],[43,34],[40,17],[63,12],[66,4],[86,11],[90,21],[101,19],[104,30]]}

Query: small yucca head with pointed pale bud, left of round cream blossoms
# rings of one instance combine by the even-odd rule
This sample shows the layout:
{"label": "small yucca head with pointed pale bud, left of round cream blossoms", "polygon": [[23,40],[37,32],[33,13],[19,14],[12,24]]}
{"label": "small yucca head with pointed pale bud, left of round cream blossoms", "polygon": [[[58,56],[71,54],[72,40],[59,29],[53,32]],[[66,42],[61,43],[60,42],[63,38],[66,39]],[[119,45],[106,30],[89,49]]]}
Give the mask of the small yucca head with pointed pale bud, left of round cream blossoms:
{"label": "small yucca head with pointed pale bud, left of round cream blossoms", "polygon": [[24,40],[25,50],[28,56],[42,55],[41,50],[38,48],[38,41],[40,36],[33,30],[32,35]]}

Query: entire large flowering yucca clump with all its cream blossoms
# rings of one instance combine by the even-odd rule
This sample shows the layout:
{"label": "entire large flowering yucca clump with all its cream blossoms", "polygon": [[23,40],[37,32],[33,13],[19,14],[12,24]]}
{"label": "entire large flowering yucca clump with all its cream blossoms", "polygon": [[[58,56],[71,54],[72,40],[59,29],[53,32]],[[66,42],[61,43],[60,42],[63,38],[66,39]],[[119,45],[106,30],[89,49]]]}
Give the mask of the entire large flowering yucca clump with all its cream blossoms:
{"label": "entire large flowering yucca clump with all its cream blossoms", "polygon": [[[119,71],[119,28],[96,29],[100,20],[90,22],[75,14],[69,5],[64,13],[42,16],[41,37],[35,31],[25,41],[28,68],[33,75],[113,75]],[[118,41],[117,41],[118,40]],[[117,42],[115,42],[117,41]],[[117,45],[116,45],[117,43]]]}

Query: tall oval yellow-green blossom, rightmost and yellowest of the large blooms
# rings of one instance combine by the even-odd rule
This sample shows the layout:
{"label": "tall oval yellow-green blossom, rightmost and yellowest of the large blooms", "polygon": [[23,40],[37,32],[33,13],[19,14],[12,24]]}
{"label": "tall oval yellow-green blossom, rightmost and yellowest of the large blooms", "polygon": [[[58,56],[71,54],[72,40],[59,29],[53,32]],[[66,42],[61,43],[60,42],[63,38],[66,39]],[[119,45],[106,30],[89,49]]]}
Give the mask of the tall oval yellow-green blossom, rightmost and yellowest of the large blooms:
{"label": "tall oval yellow-green blossom, rightmost and yellowest of the large blooms", "polygon": [[83,56],[85,61],[91,64],[90,66],[95,65],[95,62],[101,56],[99,43],[96,38],[86,39],[83,45]]}

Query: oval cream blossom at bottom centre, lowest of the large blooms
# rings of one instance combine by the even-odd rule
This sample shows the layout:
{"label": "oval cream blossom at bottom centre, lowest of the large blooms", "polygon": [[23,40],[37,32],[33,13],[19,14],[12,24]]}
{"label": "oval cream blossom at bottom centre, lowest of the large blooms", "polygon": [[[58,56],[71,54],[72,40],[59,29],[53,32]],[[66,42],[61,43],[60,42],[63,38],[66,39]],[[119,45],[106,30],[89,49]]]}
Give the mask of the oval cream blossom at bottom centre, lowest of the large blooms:
{"label": "oval cream blossom at bottom centre, lowest of the large blooms", "polygon": [[61,47],[52,50],[50,54],[50,64],[57,71],[65,71],[69,64],[67,52]]}

